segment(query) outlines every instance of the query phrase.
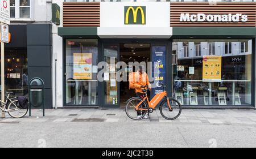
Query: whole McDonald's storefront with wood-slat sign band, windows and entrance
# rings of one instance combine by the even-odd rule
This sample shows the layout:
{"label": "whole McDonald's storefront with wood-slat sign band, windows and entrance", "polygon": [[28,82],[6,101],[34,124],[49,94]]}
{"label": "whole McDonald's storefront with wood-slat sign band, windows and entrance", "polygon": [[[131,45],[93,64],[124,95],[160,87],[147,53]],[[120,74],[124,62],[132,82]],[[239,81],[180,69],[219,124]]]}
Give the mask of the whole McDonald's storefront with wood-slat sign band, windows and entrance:
{"label": "whole McDonald's storefront with wood-slat sign band, windows and entrance", "polygon": [[255,11],[255,2],[64,2],[63,107],[123,108],[135,92],[116,80],[114,61],[152,62],[151,82],[185,107],[255,108]]}

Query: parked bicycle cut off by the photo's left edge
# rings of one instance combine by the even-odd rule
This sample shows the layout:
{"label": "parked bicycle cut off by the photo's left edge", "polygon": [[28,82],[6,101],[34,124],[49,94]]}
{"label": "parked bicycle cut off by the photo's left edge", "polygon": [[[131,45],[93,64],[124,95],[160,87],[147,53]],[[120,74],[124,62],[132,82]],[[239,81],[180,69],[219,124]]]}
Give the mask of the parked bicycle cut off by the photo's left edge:
{"label": "parked bicycle cut off by the photo's left edge", "polygon": [[28,108],[22,109],[21,106],[19,106],[18,97],[10,98],[10,95],[13,92],[6,92],[7,97],[6,101],[1,102],[0,110],[3,112],[7,112],[11,117],[13,118],[22,118],[27,114]]}

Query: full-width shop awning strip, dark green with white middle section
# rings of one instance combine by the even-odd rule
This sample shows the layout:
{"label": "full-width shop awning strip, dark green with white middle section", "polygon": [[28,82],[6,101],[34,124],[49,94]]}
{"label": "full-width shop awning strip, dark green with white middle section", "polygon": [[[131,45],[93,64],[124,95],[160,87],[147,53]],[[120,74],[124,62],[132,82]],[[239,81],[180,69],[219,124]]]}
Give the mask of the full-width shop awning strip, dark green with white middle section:
{"label": "full-width shop awning strip, dark green with white middle section", "polygon": [[254,38],[255,27],[102,28],[61,27],[64,38]]}

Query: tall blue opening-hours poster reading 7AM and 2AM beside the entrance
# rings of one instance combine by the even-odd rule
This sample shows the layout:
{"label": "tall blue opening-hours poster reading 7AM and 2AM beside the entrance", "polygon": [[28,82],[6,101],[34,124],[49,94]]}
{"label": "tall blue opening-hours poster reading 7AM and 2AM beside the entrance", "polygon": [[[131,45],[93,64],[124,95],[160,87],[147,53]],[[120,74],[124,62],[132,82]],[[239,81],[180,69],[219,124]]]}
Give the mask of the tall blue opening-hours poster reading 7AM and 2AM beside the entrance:
{"label": "tall blue opening-hours poster reading 7AM and 2AM beside the entrance", "polygon": [[152,85],[151,98],[160,92],[163,87],[158,83],[166,84],[166,46],[152,46],[152,75],[154,85]]}

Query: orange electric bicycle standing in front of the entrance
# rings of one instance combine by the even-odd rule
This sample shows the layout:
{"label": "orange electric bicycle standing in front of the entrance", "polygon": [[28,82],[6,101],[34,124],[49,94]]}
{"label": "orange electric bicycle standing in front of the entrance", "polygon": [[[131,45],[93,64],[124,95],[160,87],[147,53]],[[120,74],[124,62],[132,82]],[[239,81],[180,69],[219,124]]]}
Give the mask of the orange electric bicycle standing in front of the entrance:
{"label": "orange electric bicycle standing in front of the entrance", "polygon": [[[133,97],[126,102],[125,112],[131,119],[138,120],[142,119],[147,113],[153,113],[155,107],[160,103],[159,110],[160,114],[164,119],[174,120],[181,114],[180,102],[174,98],[168,97],[165,91],[166,85],[159,83],[163,87],[164,91],[155,95],[151,101],[148,100],[147,91],[148,89],[142,89],[145,96]],[[138,115],[141,114],[141,115]]]}

